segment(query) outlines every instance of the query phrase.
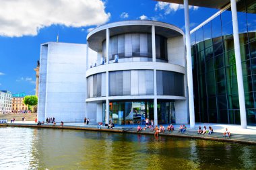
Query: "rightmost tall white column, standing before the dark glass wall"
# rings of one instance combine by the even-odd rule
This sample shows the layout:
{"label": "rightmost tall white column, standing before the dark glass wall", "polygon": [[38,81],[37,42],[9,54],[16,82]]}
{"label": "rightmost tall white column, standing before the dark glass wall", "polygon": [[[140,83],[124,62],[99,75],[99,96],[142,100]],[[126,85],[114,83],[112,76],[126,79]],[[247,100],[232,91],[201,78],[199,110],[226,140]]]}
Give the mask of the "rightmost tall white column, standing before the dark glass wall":
{"label": "rightmost tall white column, standing before the dark glass wall", "polygon": [[236,57],[236,75],[239,95],[239,108],[242,128],[247,128],[247,118],[245,110],[245,91],[243,85],[243,73],[241,64],[240,42],[237,22],[236,0],[231,0],[232,24],[234,36],[234,54]]}

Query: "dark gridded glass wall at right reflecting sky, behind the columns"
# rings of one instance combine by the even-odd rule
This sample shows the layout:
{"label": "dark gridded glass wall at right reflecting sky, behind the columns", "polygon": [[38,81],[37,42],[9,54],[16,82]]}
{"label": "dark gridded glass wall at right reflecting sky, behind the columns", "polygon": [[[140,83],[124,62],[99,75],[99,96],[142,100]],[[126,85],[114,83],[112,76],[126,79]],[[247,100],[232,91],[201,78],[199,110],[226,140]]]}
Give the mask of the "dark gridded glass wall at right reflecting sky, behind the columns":
{"label": "dark gridded glass wall at right reflecting sky, behind the columns", "polygon": [[[256,2],[237,2],[247,124],[256,124]],[[232,15],[227,9],[191,34],[196,122],[241,124]]]}

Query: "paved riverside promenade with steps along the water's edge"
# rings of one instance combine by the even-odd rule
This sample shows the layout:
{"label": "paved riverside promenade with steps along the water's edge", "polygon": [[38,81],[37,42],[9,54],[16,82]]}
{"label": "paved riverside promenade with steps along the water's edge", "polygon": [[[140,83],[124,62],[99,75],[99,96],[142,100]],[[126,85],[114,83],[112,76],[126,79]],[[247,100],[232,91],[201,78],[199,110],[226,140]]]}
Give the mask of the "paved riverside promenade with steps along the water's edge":
{"label": "paved riverside promenade with steps along the water's edge", "polygon": [[[178,132],[179,126],[181,124],[174,124],[174,131],[168,132],[167,130],[164,133],[158,134],[159,136],[170,136],[170,137],[182,137],[182,138],[194,138],[194,139],[203,139],[203,140],[218,140],[222,142],[238,142],[243,144],[256,144],[256,126],[247,126],[247,129],[241,128],[239,125],[231,124],[195,124],[195,128],[191,129],[189,124],[187,130],[184,134]],[[154,132],[151,132],[150,129],[145,131],[137,132],[137,126],[115,126],[113,129],[108,129],[105,126],[102,126],[101,129],[98,129],[96,124],[85,125],[84,123],[64,123],[64,126],[61,127],[59,123],[55,126],[53,124],[42,124],[36,125],[32,121],[15,121],[15,123],[0,124],[0,127],[3,126],[14,126],[14,127],[31,127],[31,128],[60,128],[60,129],[72,129],[72,130],[94,130],[102,132],[122,132],[122,133],[133,133],[133,134],[147,134],[154,135]],[[164,125],[164,128],[167,129],[168,125]],[[197,128],[201,126],[206,126],[207,129],[209,126],[212,126],[214,129],[213,134],[197,134]],[[142,126],[143,128],[143,126]],[[223,137],[223,132],[225,129],[231,133],[230,137]]]}

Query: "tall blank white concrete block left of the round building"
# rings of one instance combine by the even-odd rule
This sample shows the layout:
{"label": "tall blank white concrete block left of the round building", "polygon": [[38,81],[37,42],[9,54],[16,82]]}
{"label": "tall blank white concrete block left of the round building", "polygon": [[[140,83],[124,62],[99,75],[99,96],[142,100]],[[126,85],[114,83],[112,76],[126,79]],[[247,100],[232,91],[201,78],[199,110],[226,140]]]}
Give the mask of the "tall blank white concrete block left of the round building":
{"label": "tall blank white concrete block left of the round building", "polygon": [[39,120],[55,117],[56,122],[82,122],[86,99],[86,44],[49,42],[46,54],[43,46],[46,45],[42,45],[40,56]]}

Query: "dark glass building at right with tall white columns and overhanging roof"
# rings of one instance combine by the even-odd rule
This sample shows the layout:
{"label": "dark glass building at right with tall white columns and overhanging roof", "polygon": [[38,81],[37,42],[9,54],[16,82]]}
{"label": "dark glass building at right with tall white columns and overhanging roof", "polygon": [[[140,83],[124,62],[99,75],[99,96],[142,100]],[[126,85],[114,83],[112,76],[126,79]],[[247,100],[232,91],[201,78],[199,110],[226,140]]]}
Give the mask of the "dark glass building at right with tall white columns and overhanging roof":
{"label": "dark glass building at right with tall white columns and overhanging roof", "polygon": [[[184,4],[191,127],[256,124],[256,1],[164,1]],[[190,31],[189,5],[220,11]]]}

